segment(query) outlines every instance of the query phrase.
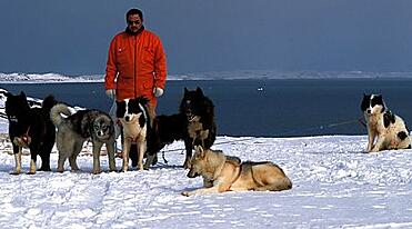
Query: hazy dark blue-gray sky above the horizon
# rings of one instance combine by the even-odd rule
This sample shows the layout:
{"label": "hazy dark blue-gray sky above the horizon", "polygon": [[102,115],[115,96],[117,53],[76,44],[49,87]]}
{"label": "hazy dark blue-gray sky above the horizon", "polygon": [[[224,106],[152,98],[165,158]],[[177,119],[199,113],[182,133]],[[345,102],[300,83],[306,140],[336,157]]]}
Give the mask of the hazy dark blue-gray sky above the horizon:
{"label": "hazy dark blue-gray sky above the horizon", "polygon": [[3,0],[0,72],[104,73],[130,8],[161,37],[171,74],[412,71],[409,0]]}

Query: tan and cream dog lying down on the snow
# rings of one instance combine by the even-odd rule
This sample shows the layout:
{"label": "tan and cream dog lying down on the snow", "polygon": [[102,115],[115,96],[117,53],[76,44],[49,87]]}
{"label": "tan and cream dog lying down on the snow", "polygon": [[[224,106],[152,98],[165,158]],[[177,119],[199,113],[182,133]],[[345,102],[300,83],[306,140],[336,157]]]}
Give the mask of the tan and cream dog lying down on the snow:
{"label": "tan and cream dog lying down on the snow", "polygon": [[183,191],[183,196],[218,193],[224,191],[282,191],[292,188],[292,182],[277,165],[270,161],[240,163],[227,158],[219,150],[203,150],[195,146],[189,178],[203,177],[203,187]]}

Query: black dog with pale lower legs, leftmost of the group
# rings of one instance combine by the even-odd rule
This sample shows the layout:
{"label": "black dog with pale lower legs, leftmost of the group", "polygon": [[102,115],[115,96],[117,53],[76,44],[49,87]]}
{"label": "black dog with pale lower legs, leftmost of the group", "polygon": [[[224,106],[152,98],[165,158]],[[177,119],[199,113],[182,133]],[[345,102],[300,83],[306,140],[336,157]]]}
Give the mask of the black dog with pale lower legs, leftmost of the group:
{"label": "black dog with pale lower legs, leftmost of the group", "polygon": [[21,151],[29,148],[31,155],[30,175],[36,173],[37,156],[41,158],[40,171],[50,171],[50,152],[54,145],[56,129],[50,120],[50,109],[56,104],[48,96],[41,108],[30,108],[24,92],[18,96],[6,93],[6,114],[9,120],[9,137],[13,146],[16,168],[13,175],[21,172]]}

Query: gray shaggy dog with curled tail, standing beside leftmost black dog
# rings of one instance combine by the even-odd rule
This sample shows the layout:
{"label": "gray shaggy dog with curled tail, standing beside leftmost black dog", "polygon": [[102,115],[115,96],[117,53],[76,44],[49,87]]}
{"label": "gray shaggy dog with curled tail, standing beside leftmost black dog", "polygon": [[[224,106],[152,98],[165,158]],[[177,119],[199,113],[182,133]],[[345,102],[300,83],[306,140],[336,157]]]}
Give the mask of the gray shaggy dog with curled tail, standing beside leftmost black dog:
{"label": "gray shaggy dog with curled tail, standing beside leftmost black dog", "polygon": [[56,145],[59,150],[59,172],[64,171],[64,162],[68,158],[71,170],[79,170],[76,160],[88,139],[91,139],[93,145],[92,172],[101,172],[100,150],[104,143],[109,156],[109,169],[115,171],[114,122],[109,114],[99,110],[80,110],[71,113],[68,106],[58,103],[51,109],[50,118],[58,129]]}

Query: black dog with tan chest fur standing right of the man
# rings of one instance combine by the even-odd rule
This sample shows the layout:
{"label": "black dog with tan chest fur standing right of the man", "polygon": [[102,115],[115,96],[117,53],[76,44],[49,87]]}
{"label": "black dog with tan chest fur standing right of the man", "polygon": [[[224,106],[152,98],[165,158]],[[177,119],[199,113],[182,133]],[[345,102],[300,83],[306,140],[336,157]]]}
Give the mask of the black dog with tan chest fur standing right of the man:
{"label": "black dog with tan chest fur standing right of the man", "polygon": [[[210,149],[215,140],[217,126],[214,122],[213,102],[203,94],[199,87],[190,91],[184,88],[179,113],[158,116],[153,120],[152,132],[148,138],[148,159],[144,168],[155,163],[157,153],[167,145],[184,140],[187,151],[184,168],[189,168],[194,146]],[[154,161],[153,161],[154,160]]]}

